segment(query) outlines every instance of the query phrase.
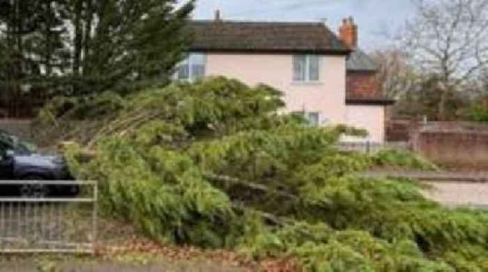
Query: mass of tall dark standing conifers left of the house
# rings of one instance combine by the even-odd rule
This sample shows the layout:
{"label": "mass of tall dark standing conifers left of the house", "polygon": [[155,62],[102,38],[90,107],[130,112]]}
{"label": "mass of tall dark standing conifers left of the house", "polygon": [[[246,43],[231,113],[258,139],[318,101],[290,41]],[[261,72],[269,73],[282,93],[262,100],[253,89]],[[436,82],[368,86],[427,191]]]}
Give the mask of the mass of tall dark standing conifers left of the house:
{"label": "mass of tall dark standing conifers left of the house", "polygon": [[166,83],[190,38],[177,2],[0,0],[1,106]]}

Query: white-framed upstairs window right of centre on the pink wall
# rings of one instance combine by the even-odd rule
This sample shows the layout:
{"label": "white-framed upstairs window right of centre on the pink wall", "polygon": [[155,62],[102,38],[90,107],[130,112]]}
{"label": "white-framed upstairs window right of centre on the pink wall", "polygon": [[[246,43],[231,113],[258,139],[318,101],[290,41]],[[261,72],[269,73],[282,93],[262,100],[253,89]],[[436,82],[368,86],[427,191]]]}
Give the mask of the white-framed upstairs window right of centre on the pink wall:
{"label": "white-framed upstairs window right of centre on the pink wall", "polygon": [[314,55],[293,56],[293,81],[318,82],[320,80],[320,57]]}

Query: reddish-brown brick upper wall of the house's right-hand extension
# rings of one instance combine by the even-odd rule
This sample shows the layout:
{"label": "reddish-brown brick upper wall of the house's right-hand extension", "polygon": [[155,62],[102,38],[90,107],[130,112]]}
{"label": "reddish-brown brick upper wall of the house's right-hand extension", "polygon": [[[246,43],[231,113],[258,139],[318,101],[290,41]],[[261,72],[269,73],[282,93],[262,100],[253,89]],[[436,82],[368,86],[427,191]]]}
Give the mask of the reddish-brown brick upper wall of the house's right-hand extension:
{"label": "reddish-brown brick upper wall of the house's right-hand extension", "polygon": [[379,83],[372,72],[348,72],[346,90],[348,97],[376,97],[379,95]]}

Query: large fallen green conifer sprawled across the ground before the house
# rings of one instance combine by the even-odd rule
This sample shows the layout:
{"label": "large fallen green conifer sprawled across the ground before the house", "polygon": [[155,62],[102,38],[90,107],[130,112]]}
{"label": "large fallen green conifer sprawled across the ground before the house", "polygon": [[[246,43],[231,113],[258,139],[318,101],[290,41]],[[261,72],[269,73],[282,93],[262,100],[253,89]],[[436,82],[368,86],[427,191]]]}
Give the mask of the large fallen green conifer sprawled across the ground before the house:
{"label": "large fallen green conifer sprawled across the ground before the house", "polygon": [[[157,241],[287,257],[307,271],[488,269],[486,214],[445,209],[415,182],[358,177],[377,160],[336,144],[364,132],[278,114],[273,88],[213,78],[110,96],[56,99],[39,126],[77,143],[70,168],[100,181],[105,214]],[[111,110],[83,114],[100,104]],[[68,121],[90,129],[60,133]]]}

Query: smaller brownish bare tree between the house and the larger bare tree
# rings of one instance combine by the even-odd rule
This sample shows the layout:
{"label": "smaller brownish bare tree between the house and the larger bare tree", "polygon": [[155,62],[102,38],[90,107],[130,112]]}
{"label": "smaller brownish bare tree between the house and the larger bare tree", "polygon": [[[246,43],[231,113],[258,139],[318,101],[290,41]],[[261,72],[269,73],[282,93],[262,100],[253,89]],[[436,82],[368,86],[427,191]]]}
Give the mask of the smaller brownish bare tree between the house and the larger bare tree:
{"label": "smaller brownish bare tree between the house and the larger bare tree", "polygon": [[378,63],[376,80],[386,97],[400,99],[418,85],[419,73],[409,62],[409,56],[397,47],[378,49],[370,56]]}

